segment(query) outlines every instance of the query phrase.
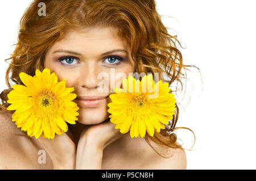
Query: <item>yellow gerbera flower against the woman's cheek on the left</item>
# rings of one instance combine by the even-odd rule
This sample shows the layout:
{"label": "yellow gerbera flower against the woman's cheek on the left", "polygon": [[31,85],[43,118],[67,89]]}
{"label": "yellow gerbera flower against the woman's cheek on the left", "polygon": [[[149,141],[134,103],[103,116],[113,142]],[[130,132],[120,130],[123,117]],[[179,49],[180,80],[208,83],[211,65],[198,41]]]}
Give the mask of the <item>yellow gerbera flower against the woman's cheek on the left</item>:
{"label": "yellow gerbera flower against the woman's cheek on the left", "polygon": [[16,110],[12,119],[18,128],[29,136],[53,139],[56,134],[68,131],[67,121],[76,124],[79,115],[77,104],[72,102],[76,94],[70,93],[74,87],[65,87],[66,78],[57,82],[57,75],[49,69],[38,69],[34,77],[24,72],[19,74],[23,85],[13,85],[7,95],[7,110]]}

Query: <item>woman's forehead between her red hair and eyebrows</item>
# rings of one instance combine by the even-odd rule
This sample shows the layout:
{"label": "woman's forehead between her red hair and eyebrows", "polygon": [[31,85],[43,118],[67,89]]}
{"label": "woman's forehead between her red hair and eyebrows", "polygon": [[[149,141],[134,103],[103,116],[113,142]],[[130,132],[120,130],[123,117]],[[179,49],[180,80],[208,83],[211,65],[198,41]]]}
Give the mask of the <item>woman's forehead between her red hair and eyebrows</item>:
{"label": "woman's forehead between her red hair and eyebrows", "polygon": [[115,48],[128,49],[127,42],[118,36],[117,28],[93,27],[67,32],[64,39],[55,43],[51,50],[75,49],[80,52],[86,52],[86,50],[90,52],[93,50],[93,52],[102,53]]}

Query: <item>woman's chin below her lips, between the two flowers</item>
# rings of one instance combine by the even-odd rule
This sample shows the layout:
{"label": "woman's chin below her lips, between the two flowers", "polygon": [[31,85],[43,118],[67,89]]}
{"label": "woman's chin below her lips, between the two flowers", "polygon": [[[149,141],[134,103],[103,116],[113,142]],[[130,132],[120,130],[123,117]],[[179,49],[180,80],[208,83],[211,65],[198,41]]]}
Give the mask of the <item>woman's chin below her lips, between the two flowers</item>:
{"label": "woman's chin below her lips, between the two flowers", "polygon": [[79,109],[78,122],[81,124],[100,124],[109,117],[106,107],[90,107]]}

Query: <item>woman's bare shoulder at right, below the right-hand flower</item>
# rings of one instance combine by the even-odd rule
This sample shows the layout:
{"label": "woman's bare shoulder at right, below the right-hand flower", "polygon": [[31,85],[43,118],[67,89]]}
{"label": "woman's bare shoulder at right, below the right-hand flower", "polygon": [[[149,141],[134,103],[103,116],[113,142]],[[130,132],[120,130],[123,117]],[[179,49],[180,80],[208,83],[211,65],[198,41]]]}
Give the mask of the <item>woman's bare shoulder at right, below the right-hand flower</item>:
{"label": "woman's bare shoulder at right, below the right-hand flower", "polygon": [[183,149],[163,149],[154,141],[149,142],[152,147],[143,138],[131,139],[129,134],[125,134],[104,149],[102,169],[187,169],[187,157]]}

